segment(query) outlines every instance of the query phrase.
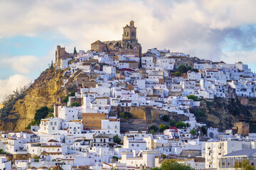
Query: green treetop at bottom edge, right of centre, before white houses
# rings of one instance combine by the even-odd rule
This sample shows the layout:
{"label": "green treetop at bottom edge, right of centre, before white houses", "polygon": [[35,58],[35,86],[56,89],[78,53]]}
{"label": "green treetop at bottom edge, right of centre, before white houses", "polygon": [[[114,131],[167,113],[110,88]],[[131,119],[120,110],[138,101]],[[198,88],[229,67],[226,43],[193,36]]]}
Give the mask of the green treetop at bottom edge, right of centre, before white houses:
{"label": "green treetop at bottom edge, right of centre, before white houses", "polygon": [[167,159],[164,161],[163,164],[161,164],[160,167],[154,167],[151,170],[171,170],[171,169],[175,169],[175,170],[193,170],[193,168],[191,168],[191,166],[188,166],[186,164],[179,164],[178,162],[176,162],[173,159]]}

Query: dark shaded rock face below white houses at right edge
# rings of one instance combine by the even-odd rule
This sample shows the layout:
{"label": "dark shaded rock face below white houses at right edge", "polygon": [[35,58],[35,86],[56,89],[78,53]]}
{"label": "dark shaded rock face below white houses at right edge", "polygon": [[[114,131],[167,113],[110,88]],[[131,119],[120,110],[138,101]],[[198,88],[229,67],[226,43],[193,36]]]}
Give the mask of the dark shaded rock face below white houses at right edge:
{"label": "dark shaded rock face below white houses at right edge", "polygon": [[196,120],[208,127],[232,128],[235,123],[256,124],[255,98],[214,98],[201,101],[200,108],[192,108]]}

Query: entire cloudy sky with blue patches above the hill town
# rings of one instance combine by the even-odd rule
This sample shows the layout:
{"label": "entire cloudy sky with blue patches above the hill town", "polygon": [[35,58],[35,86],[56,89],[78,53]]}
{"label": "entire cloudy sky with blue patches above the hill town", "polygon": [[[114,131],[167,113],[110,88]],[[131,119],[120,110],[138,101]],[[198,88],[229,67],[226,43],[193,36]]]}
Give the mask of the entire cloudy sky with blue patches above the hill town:
{"label": "entire cloudy sky with blue patches above the hill town", "polygon": [[95,40],[120,40],[131,19],[145,52],[151,47],[201,59],[242,61],[256,71],[256,1],[0,1],[0,102],[55,60]]}

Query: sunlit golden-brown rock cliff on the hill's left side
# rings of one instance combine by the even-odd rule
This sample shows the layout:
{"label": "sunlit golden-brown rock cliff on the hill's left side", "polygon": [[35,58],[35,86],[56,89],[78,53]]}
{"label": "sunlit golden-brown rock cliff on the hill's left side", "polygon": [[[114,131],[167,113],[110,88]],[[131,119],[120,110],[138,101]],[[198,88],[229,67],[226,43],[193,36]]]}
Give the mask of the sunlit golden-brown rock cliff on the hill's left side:
{"label": "sunlit golden-brown rock cliff on the hill's left side", "polygon": [[63,96],[63,72],[60,69],[46,69],[21,98],[3,108],[0,130],[24,130],[33,120],[38,108],[52,107],[53,103],[60,103],[58,96]]}

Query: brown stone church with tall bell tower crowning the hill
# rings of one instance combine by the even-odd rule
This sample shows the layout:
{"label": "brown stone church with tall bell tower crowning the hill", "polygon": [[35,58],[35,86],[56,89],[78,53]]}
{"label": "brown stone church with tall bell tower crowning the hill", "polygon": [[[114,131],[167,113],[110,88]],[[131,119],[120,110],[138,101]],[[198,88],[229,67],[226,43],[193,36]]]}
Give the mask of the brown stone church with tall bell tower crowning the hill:
{"label": "brown stone church with tall bell tower crowning the hill", "polygon": [[114,52],[116,55],[134,55],[142,57],[142,46],[137,40],[137,28],[134,21],[130,21],[129,26],[123,28],[122,40],[100,41],[91,44],[91,50],[95,52]]}

